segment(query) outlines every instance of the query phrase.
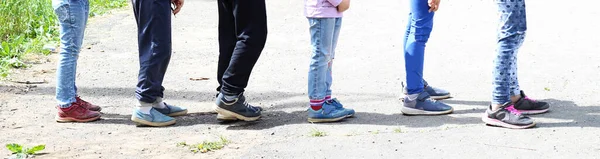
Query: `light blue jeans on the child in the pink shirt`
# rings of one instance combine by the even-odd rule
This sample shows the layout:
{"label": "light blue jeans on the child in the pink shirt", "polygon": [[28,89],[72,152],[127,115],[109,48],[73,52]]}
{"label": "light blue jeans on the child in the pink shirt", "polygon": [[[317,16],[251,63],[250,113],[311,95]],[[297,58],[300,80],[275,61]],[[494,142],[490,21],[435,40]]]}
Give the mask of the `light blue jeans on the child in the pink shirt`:
{"label": "light blue jeans on the child in the pink shirt", "polygon": [[322,100],[331,96],[331,70],[342,18],[308,18],[312,56],[308,71],[308,97]]}

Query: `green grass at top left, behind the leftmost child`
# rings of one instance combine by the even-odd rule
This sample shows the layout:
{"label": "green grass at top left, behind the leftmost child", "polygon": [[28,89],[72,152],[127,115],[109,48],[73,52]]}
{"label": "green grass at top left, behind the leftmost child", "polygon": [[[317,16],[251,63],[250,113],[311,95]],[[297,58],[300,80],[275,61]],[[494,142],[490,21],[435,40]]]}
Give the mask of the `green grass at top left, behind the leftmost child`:
{"label": "green grass at top left, behind the leftmost child", "polygon": [[[127,0],[90,0],[90,16],[124,7]],[[27,53],[48,54],[44,45],[58,45],[58,23],[52,0],[0,0],[0,78],[10,68],[25,67]]]}

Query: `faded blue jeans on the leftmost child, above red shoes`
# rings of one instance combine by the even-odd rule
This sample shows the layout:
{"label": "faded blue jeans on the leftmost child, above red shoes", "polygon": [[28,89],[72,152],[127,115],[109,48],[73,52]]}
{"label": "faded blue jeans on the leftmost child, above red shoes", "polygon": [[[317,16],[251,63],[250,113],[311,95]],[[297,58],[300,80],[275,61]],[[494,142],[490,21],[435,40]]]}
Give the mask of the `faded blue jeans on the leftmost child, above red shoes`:
{"label": "faded blue jeans on the leftmost child, above red shoes", "polygon": [[77,59],[89,14],[88,0],[52,0],[60,24],[60,56],[56,70],[56,100],[61,107],[75,102]]}

